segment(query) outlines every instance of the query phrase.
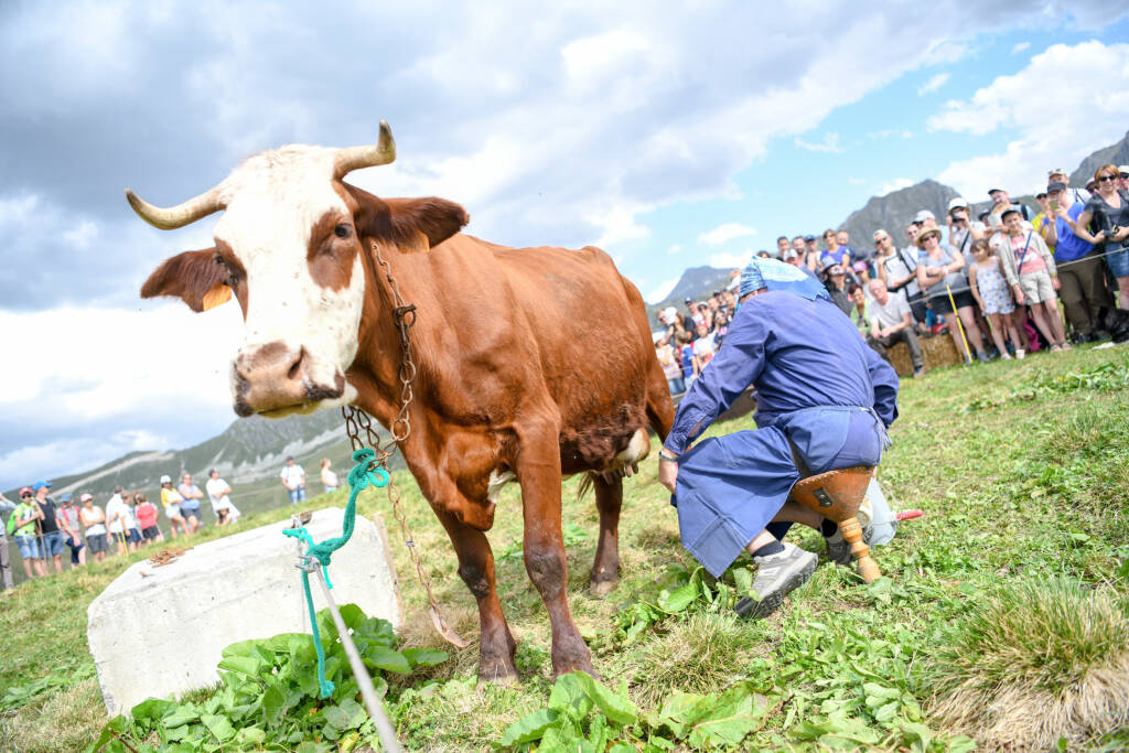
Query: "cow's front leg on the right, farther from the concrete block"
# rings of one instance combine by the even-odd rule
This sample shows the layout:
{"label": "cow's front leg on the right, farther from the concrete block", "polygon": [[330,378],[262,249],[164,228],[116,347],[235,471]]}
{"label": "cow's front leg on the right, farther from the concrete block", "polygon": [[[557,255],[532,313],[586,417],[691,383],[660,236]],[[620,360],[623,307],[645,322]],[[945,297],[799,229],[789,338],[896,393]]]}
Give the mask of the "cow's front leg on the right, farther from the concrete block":
{"label": "cow's front leg on the right, farther from the concrete block", "polygon": [[592,654],[568,607],[568,563],[561,535],[561,461],[558,430],[542,420],[517,431],[517,479],[525,516],[525,570],[541,593],[553,632],[553,675],[592,673]]}

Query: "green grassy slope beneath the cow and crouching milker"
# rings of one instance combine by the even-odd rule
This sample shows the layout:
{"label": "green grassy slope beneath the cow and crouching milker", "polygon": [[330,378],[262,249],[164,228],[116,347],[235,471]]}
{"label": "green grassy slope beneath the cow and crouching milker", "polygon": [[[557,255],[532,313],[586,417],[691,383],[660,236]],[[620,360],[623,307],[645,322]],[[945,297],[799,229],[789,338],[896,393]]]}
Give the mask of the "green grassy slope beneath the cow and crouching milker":
{"label": "green grassy slope beneath the cow and crouching milker", "polygon": [[[693,561],[679,544],[668,494],[648,461],[644,472],[625,483],[623,580],[607,598],[589,598],[597,516],[590,494],[576,499],[571,480],[564,489],[564,516],[571,524],[569,602],[593,647],[596,671],[611,686],[625,678],[644,715],[656,713],[675,691],[754,688],[765,697],[769,713],[745,746],[966,750],[971,743],[963,735],[991,738],[982,727],[945,712],[944,699],[961,683],[949,686],[942,677],[979,672],[991,681],[981,684],[995,683],[996,692],[1004,692],[1040,676],[1023,664],[1021,653],[984,648],[1000,641],[1035,646],[1021,641],[1047,632],[1036,611],[992,632],[991,610],[1009,613],[1040,599],[1050,604],[1054,594],[1074,594],[1062,598],[1105,606],[1092,613],[1075,610],[1077,620],[1053,640],[1048,638],[1048,663],[1040,666],[1069,688],[1087,682],[1096,688],[1102,673],[1126,656],[1124,643],[1110,633],[1117,619],[1124,620],[1129,592],[1127,380],[1124,349],[1076,349],[907,380],[901,418],[891,432],[895,444],[879,478],[901,506],[921,508],[926,516],[903,524],[891,544],[876,550],[886,578],[866,586],[849,570],[822,564],[808,586],[762,623],[735,622],[720,612],[691,607],[648,623],[631,642],[623,641],[618,631],[624,615],[656,603],[669,585],[671,567],[677,571],[685,563],[692,569]],[[714,427],[710,434],[750,427],[751,418],[745,418]],[[410,476],[401,472],[396,480],[448,622],[474,639],[476,610],[455,572],[450,544]],[[344,499],[339,491],[305,507],[341,505]],[[380,511],[390,523],[408,615],[405,645],[441,647],[430,631],[426,598],[391,525],[384,493],[362,494],[361,510]],[[290,513],[283,508],[247,516],[240,529]],[[523,682],[476,689],[476,642],[453,650],[447,663],[426,675],[396,680],[390,707],[409,750],[489,750],[509,724],[545,706],[551,689],[549,623],[525,575],[520,528],[520,494],[510,485],[489,537],[498,555],[502,606],[519,643]],[[219,533],[208,529],[203,540]],[[814,532],[798,532],[794,540],[822,552]],[[16,708],[0,720],[0,750],[12,741],[19,741],[21,750],[75,750],[105,723],[96,682],[89,677],[86,606],[131,561],[115,558],[37,580],[0,599],[0,634],[6,640],[0,699],[12,689],[25,693],[9,703]],[[1099,614],[1105,616],[1099,620]],[[1091,633],[1092,642],[1079,638]],[[38,691],[30,688],[36,681],[43,683]],[[1032,702],[1027,697],[1008,698],[1016,708]],[[1040,704],[1049,702],[1038,698]],[[1099,726],[1078,733],[1062,727],[1047,734],[1048,739],[1068,737],[1071,750],[1129,744],[1124,728]]]}

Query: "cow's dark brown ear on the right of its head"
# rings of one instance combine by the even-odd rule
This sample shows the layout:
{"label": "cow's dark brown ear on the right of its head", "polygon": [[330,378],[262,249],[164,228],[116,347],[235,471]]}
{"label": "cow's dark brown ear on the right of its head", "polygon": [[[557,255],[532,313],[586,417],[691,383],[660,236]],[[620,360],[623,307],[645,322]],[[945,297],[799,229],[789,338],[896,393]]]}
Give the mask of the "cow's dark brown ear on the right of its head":
{"label": "cow's dark brown ear on the right of its head", "polygon": [[446,199],[378,199],[356,186],[345,190],[359,204],[357,231],[390,240],[406,253],[428,251],[471,221],[465,209]]}

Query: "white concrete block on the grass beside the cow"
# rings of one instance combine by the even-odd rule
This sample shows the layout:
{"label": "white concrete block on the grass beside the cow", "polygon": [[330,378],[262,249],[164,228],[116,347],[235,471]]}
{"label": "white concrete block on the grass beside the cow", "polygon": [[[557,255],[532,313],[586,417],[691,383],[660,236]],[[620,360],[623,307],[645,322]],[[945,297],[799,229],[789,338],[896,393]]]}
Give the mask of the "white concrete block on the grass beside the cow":
{"label": "white concrete block on the grass beside the cow", "polygon": [[[340,536],[343,517],[340,507],[317,510],[306,528],[314,541]],[[288,527],[274,523],[199,544],[161,567],[137,562],[94,599],[87,640],[111,715],[215,684],[230,643],[309,632],[298,546],[282,535]],[[165,543],[183,545],[192,540]],[[403,622],[383,523],[357,517],[352,539],[333,555],[330,580],[339,606],[357,604],[395,628]],[[314,607],[324,608],[317,584],[310,590]]]}

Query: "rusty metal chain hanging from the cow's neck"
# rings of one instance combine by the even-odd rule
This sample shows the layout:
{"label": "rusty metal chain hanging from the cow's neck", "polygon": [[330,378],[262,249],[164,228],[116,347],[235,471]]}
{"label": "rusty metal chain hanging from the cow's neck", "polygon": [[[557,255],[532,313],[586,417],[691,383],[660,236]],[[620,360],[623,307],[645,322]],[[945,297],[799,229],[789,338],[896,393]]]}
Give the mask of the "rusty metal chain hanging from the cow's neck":
{"label": "rusty metal chain hanging from the cow's neck", "polygon": [[[349,435],[349,441],[352,444],[353,452],[361,447],[371,447],[376,453],[376,456],[373,458],[373,467],[380,466],[388,472],[388,485],[385,487],[388,492],[388,504],[392,506],[393,517],[400,524],[400,533],[403,536],[404,545],[408,548],[408,553],[411,555],[412,564],[415,566],[415,576],[419,578],[420,585],[423,586],[423,590],[427,592],[428,612],[431,615],[431,623],[435,625],[436,632],[453,646],[465,648],[469,643],[447,624],[447,621],[443,619],[443,613],[439,611],[439,603],[431,589],[431,577],[423,567],[423,559],[415,548],[414,536],[412,536],[411,528],[408,527],[408,518],[400,505],[400,489],[396,488],[392,471],[388,469],[388,458],[396,452],[396,446],[406,441],[412,435],[412,422],[408,413],[408,408],[414,397],[412,383],[415,382],[417,375],[415,361],[412,360],[411,339],[411,329],[415,324],[415,305],[404,304],[403,296],[400,295],[400,286],[396,284],[395,278],[392,277],[392,268],[388,266],[388,262],[380,255],[380,246],[375,242],[373,243],[373,254],[376,256],[377,264],[384,268],[384,278],[388,282],[388,291],[392,295],[392,318],[400,333],[400,370],[397,375],[400,378],[400,412],[388,426],[388,431],[392,436],[383,445],[379,435],[373,428],[373,417],[364,410],[356,405],[342,405],[341,415],[345,420],[345,434]],[[365,432],[364,440],[360,437],[362,431]]]}

